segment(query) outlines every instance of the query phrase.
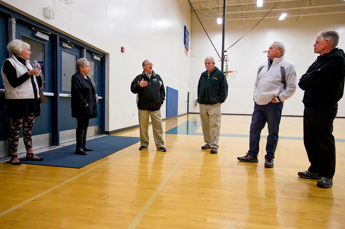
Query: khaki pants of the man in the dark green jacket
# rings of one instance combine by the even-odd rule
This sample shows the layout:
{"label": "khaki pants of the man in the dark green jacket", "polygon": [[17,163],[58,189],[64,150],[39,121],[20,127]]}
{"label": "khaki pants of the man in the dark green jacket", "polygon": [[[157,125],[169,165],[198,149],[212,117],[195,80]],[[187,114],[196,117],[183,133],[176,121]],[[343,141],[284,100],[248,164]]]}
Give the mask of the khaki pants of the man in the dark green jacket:
{"label": "khaki pants of the man in the dark green jacket", "polygon": [[199,104],[199,109],[204,141],[211,147],[218,149],[221,120],[220,103],[212,105]]}

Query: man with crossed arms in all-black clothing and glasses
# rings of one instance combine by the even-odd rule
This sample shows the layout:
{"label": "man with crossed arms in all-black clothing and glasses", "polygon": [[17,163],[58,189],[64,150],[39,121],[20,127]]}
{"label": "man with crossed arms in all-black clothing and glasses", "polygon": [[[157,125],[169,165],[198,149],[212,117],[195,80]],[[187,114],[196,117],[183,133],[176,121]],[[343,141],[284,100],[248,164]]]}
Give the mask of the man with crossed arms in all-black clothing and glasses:
{"label": "man with crossed arms in all-black clothing and glasses", "polygon": [[320,54],[302,75],[298,86],[304,90],[303,139],[310,166],[298,172],[302,178],[318,179],[316,185],[329,188],[335,173],[333,120],[344,94],[345,54],[336,48],[336,31],[320,32],[314,53]]}

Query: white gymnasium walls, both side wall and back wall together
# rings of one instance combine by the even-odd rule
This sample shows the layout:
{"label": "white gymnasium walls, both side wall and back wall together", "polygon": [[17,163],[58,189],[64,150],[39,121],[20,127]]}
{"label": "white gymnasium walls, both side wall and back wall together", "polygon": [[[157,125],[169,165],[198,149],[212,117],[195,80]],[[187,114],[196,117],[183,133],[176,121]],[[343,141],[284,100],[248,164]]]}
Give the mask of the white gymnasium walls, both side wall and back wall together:
{"label": "white gymnasium walls, both side wall and back wall together", "polygon": [[[4,6],[21,12],[50,28],[66,34],[107,54],[106,56],[106,131],[138,124],[136,95],[130,83],[142,72],[141,63],[150,59],[165,86],[179,91],[178,114],[187,112],[187,92],[190,91],[189,112],[194,107],[200,73],[205,70],[204,58],[217,54],[203,31],[187,0],[0,0]],[[55,10],[55,18],[42,16],[42,8]],[[199,15],[200,17],[201,15]],[[201,18],[201,17],[200,17]],[[193,23],[192,23],[193,21]],[[211,40],[221,55],[222,25],[215,20],[201,19]],[[313,43],[319,31],[336,30],[345,48],[345,15],[319,15],[283,21],[264,19],[256,28],[228,50],[229,70],[237,70],[236,78],[228,81],[229,96],[223,113],[252,114],[253,86],[257,67],[266,61],[269,45],[282,41],[286,58],[297,69],[297,78],[305,73],[317,54]],[[225,49],[249,31],[257,21],[226,22]],[[189,53],[184,53],[184,26],[190,34]],[[125,53],[120,47],[126,48]],[[303,91],[286,100],[284,115],[303,115]],[[166,117],[166,103],[161,109]],[[345,117],[345,99],[339,102],[338,116]]]}

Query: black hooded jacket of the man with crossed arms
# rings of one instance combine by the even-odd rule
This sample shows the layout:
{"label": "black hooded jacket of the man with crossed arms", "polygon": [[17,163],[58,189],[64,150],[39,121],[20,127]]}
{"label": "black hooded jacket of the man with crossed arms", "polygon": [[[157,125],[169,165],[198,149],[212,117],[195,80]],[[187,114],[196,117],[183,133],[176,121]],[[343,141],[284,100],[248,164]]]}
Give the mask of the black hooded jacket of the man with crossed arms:
{"label": "black hooded jacket of the man with crossed arms", "polygon": [[299,79],[298,86],[304,90],[302,102],[305,107],[336,105],[344,94],[345,54],[334,48],[318,56],[307,72]]}

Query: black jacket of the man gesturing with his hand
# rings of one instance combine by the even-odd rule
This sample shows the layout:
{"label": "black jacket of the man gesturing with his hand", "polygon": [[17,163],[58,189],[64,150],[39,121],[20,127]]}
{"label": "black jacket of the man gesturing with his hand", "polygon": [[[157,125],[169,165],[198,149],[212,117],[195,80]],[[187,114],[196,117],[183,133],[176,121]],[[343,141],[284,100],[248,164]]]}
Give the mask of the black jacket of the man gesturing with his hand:
{"label": "black jacket of the man gesturing with his hand", "polygon": [[[141,79],[147,81],[147,86],[140,87]],[[137,106],[140,110],[159,110],[165,100],[165,88],[163,80],[158,74],[152,71],[151,79],[144,74],[137,75],[131,83],[130,90],[137,94]]]}

